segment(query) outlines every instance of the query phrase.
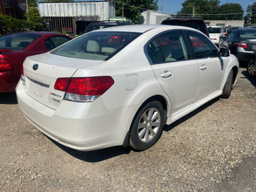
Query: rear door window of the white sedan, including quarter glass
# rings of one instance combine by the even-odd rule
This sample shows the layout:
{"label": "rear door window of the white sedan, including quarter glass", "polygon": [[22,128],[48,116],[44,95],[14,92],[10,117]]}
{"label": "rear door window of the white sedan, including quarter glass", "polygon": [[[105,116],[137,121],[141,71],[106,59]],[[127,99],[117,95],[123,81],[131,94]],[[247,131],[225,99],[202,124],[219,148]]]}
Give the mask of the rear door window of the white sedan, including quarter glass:
{"label": "rear door window of the white sedan, including quarter glass", "polygon": [[171,31],[159,35],[148,43],[146,51],[153,64],[189,58],[181,31]]}

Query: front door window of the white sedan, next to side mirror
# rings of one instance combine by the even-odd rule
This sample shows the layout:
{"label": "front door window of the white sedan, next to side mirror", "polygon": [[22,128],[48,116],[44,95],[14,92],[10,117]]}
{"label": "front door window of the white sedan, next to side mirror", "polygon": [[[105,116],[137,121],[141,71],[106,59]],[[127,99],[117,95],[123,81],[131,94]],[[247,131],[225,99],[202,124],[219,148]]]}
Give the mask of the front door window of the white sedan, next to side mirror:
{"label": "front door window of the white sedan, next to side mirror", "polygon": [[196,59],[218,57],[217,48],[205,36],[193,31],[188,31],[188,35],[194,47]]}

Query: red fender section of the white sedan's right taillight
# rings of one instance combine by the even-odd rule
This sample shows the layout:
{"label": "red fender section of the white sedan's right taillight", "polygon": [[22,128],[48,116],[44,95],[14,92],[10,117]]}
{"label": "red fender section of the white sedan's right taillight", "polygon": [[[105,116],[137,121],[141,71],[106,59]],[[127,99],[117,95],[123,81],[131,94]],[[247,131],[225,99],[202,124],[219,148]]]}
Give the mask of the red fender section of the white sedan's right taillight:
{"label": "red fender section of the white sedan's right taillight", "polygon": [[82,95],[102,95],[114,84],[110,76],[71,78],[68,93]]}

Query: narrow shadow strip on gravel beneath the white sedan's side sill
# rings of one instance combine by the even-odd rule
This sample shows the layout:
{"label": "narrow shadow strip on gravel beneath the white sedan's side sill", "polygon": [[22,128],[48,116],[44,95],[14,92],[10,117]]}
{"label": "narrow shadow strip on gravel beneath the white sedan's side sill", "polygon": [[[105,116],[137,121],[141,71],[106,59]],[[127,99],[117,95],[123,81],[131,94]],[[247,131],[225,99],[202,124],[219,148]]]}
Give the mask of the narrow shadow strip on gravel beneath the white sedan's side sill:
{"label": "narrow shadow strip on gravel beneath the white sedan's side sill", "polygon": [[179,124],[187,121],[189,118],[193,117],[194,115],[198,114],[199,112],[201,112],[202,110],[204,110],[205,108],[211,106],[213,103],[219,101],[219,97],[205,103],[203,106],[197,108],[196,110],[192,111],[191,113],[185,115],[184,117],[181,117],[180,119],[178,119],[177,121],[173,122],[171,125],[165,125],[164,126],[164,131],[170,131],[172,130],[175,126],[178,126]]}

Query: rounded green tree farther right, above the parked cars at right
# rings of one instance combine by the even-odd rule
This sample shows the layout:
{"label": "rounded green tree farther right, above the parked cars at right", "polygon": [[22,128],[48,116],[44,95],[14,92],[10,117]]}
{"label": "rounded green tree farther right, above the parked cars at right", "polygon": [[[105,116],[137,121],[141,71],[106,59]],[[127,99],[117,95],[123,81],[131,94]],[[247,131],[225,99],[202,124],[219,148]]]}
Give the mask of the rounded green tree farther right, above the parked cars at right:
{"label": "rounded green tree farther right, above the parked cars at right", "polygon": [[[217,20],[242,20],[243,8],[238,3],[225,3],[219,7],[218,13],[225,15],[217,15]],[[241,14],[229,14],[229,13],[241,13]]]}

